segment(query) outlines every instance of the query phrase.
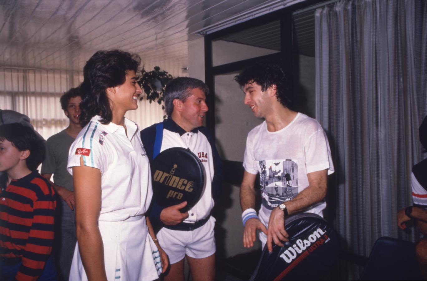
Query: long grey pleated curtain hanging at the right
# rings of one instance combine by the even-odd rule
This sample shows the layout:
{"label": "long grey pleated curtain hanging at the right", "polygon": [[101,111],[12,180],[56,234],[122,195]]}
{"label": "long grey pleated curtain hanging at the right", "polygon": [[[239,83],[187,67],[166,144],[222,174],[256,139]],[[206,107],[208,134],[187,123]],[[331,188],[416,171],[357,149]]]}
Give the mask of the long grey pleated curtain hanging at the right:
{"label": "long grey pleated curtain hanging at the right", "polygon": [[[396,214],[412,204],[410,172],[426,157],[427,3],[344,0],[315,21],[316,118],[334,157],[330,219],[342,249],[367,257],[381,236],[416,241]],[[348,266],[358,279],[361,268]]]}

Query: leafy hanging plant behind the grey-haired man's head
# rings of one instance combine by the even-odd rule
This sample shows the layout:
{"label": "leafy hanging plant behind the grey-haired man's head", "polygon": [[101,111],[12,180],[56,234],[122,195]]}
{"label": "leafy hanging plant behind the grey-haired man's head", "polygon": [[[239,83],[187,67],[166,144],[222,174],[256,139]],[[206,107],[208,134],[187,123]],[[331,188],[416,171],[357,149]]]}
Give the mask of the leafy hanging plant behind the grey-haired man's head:
{"label": "leafy hanging plant behind the grey-haired man's head", "polygon": [[[173,79],[172,75],[168,74],[167,71],[160,70],[160,67],[155,66],[152,71],[145,71],[144,68],[141,70],[142,76],[138,80],[138,84],[145,92],[146,99],[150,102],[157,101],[161,105],[161,108],[164,109],[162,105],[164,88],[166,84]],[[142,101],[144,96],[141,96],[140,101]]]}

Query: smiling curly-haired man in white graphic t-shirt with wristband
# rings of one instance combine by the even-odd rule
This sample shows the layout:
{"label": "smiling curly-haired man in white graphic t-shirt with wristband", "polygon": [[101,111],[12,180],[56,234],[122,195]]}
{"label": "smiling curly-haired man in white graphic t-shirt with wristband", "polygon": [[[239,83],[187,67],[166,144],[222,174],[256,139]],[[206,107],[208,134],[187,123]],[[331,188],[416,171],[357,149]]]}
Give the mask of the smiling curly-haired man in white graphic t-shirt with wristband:
{"label": "smiling curly-haired man in white graphic t-shirt with wristband", "polygon": [[[323,216],[327,176],[333,163],[326,134],[313,118],[289,109],[292,80],[280,65],[263,61],[235,77],[245,93],[244,102],[265,121],[246,140],[245,173],[240,187],[243,246],[254,246],[256,231],[272,251],[288,241],[286,216],[310,212]],[[268,167],[268,168],[267,168]],[[255,178],[260,177],[261,208],[255,207]],[[280,190],[281,192],[278,192]]]}

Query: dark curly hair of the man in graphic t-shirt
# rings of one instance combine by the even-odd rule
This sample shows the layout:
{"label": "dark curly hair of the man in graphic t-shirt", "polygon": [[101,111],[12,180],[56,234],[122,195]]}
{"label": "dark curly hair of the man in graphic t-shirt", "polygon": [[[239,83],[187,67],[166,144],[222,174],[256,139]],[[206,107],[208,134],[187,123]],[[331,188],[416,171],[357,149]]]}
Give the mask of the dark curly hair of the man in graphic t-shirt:
{"label": "dark curly hair of the man in graphic t-shirt", "polygon": [[292,75],[286,73],[281,65],[270,60],[263,60],[246,68],[239,75],[234,77],[240,85],[240,89],[248,83],[257,83],[262,91],[266,91],[269,86],[276,85],[277,100],[284,107],[292,106],[293,82]]}

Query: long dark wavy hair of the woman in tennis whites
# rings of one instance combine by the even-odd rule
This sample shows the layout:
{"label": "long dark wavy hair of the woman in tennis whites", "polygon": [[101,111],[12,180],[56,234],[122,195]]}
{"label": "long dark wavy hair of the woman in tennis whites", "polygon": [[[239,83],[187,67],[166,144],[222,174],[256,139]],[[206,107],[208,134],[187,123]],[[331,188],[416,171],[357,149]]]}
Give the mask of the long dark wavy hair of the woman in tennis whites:
{"label": "long dark wavy hair of the woman in tennis whites", "polygon": [[101,123],[108,124],[113,118],[105,89],[122,85],[126,71],[137,73],[141,58],[122,50],[100,50],[86,62],[83,68],[84,80],[80,85],[82,103],[79,123],[82,127],[95,115],[101,116]]}

